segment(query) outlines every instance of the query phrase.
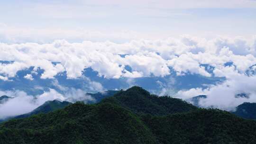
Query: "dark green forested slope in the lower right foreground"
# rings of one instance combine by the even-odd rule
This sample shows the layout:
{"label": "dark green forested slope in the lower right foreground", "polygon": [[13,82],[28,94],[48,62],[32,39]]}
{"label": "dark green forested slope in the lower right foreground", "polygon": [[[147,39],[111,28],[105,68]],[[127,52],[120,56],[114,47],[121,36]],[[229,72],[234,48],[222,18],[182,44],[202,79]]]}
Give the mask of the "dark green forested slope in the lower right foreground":
{"label": "dark green forested slope in the lower right foreground", "polygon": [[143,120],[160,144],[256,144],[256,121],[218,109]]}

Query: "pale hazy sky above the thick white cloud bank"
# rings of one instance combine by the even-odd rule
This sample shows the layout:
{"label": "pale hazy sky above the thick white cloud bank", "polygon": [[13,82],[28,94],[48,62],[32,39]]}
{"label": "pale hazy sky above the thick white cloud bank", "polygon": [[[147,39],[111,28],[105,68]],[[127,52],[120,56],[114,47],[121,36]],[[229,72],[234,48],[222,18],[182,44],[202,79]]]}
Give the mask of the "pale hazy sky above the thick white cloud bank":
{"label": "pale hazy sky above the thick white cloud bank", "polygon": [[0,17],[1,39],[9,43],[249,37],[256,0],[1,0]]}

